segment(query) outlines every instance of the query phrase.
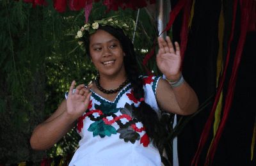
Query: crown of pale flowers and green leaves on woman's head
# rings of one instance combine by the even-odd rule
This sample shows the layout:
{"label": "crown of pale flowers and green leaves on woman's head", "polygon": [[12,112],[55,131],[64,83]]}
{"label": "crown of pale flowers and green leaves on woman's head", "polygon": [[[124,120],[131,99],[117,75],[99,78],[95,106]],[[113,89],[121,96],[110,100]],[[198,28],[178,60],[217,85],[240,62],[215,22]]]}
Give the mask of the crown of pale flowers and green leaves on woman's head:
{"label": "crown of pale flowers and green leaves on woman's head", "polygon": [[[77,31],[76,39],[78,40],[79,45],[81,45],[81,49],[84,50],[84,39],[88,38],[90,34],[95,33],[99,26],[112,26],[115,28],[120,28],[124,31],[125,35],[129,34],[128,32],[132,30],[124,20],[120,20],[114,17],[104,18],[102,20],[95,20],[92,24],[86,23],[82,26],[79,31]],[[134,21],[133,21],[134,22]]]}

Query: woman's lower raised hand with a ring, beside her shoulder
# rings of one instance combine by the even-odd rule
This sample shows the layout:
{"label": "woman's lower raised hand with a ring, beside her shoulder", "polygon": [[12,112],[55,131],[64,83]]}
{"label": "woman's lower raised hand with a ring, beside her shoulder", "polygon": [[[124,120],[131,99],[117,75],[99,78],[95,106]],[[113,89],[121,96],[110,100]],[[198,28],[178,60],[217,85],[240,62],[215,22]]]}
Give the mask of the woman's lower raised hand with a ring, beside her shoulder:
{"label": "woman's lower raised hand with a ring, beside her shoulder", "polygon": [[84,87],[84,84],[81,84],[76,87],[76,90],[73,93],[75,85],[76,82],[73,80],[69,88],[67,98],[67,113],[74,120],[80,117],[88,108],[90,96],[92,94],[92,92],[90,92],[92,84],[88,87]]}

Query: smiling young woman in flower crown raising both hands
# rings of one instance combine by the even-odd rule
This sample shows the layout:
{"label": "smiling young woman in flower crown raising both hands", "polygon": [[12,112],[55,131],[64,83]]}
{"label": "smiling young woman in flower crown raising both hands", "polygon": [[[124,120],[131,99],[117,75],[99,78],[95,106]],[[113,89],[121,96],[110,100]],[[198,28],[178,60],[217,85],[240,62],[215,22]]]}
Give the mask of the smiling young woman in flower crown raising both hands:
{"label": "smiling young woman in flower crown raising both hands", "polygon": [[111,26],[88,24],[84,35],[77,33],[99,76],[87,87],[75,88],[72,82],[67,100],[35,128],[31,147],[53,146],[78,119],[81,140],[70,165],[161,165],[159,149],[163,152],[168,135],[159,120],[161,110],[188,115],[198,108],[196,94],[180,72],[179,44],[174,48],[169,37],[158,38],[157,66],[166,79],[141,76],[131,40],[118,22],[109,22]]}

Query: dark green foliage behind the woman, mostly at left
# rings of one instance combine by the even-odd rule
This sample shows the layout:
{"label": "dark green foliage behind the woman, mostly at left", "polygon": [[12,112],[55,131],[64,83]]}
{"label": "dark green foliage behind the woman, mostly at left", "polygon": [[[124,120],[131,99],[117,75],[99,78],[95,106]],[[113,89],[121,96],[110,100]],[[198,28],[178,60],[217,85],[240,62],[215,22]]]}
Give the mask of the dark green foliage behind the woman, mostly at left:
{"label": "dark green foliage behind the woman, mostly at left", "polygon": [[[75,130],[48,151],[29,146],[33,128],[56,110],[70,82],[87,84],[96,73],[74,40],[84,23],[84,11],[58,13],[51,0],[47,3],[33,8],[22,1],[0,1],[0,163],[40,162],[45,156],[73,153],[77,147]],[[137,14],[105,11],[101,2],[94,4],[90,19],[120,15],[135,20]],[[156,39],[153,25],[147,11],[141,10],[134,41],[138,61]],[[158,73],[154,58],[149,68]]]}

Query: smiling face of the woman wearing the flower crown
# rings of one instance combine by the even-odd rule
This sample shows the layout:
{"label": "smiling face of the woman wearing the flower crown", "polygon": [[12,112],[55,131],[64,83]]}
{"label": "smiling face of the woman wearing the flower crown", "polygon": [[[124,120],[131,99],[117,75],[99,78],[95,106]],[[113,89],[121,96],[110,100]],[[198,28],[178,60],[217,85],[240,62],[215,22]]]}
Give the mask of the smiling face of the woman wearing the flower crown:
{"label": "smiling face of the woman wearing the flower crown", "polygon": [[100,77],[124,74],[124,52],[120,42],[111,34],[97,30],[90,36],[90,56]]}

